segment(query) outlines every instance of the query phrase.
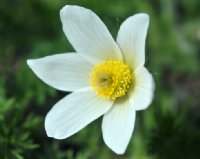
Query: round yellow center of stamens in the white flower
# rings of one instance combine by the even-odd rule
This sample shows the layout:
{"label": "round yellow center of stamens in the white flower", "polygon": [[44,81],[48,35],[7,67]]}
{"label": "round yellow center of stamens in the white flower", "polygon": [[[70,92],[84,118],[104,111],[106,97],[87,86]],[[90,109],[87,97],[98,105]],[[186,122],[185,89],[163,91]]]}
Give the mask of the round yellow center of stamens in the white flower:
{"label": "round yellow center of stamens in the white flower", "polygon": [[92,69],[90,84],[97,95],[115,100],[128,91],[132,83],[132,72],[128,65],[121,61],[103,61]]}

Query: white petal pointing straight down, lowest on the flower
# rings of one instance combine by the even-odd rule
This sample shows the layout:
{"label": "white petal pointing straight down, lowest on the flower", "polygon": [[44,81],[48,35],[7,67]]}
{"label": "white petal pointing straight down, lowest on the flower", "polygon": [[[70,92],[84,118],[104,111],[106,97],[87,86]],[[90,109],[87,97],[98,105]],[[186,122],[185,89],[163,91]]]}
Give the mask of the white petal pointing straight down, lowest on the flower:
{"label": "white petal pointing straight down, lowest on the flower", "polygon": [[135,110],[128,97],[118,99],[104,115],[103,139],[108,147],[117,154],[123,154],[131,139],[135,124]]}

